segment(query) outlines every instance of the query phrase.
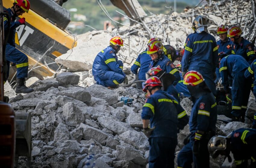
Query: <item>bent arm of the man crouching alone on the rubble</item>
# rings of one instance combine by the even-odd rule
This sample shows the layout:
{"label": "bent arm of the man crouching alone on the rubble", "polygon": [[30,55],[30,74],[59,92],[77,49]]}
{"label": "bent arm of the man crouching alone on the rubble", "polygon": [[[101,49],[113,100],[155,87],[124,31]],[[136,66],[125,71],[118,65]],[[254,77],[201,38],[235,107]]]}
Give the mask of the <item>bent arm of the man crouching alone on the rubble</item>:
{"label": "bent arm of the man crouching alone on the rubble", "polygon": [[105,61],[105,64],[108,65],[108,67],[116,72],[116,73],[120,73],[122,74],[123,76],[126,76],[124,73],[123,73],[123,70],[119,67],[119,64],[117,64],[117,61],[116,61],[116,58],[114,56],[114,52],[111,52],[111,53],[107,53],[104,57],[104,61]]}

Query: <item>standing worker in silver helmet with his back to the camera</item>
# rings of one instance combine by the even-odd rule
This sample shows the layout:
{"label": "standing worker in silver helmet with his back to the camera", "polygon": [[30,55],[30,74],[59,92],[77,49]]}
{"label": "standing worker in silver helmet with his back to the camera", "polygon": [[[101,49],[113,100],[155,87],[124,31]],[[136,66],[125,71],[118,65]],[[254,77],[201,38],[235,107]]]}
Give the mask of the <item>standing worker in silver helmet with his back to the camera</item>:
{"label": "standing worker in silver helmet with his back to the camera", "polygon": [[208,33],[207,21],[203,16],[194,19],[192,29],[195,32],[186,38],[185,52],[181,60],[183,77],[188,70],[201,73],[206,85],[216,95],[214,83],[218,61],[216,39]]}

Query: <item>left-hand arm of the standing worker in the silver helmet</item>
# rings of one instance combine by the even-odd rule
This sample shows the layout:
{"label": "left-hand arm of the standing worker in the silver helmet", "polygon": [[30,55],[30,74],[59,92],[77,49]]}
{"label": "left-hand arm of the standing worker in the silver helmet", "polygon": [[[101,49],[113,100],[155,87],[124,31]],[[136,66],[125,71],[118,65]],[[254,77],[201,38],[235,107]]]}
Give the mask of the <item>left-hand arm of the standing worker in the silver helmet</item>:
{"label": "left-hand arm of the standing worker in the silver helmet", "polygon": [[187,37],[186,43],[184,45],[184,55],[181,60],[181,67],[182,67],[182,72],[186,72],[189,69],[189,60],[190,57],[192,56],[192,43]]}

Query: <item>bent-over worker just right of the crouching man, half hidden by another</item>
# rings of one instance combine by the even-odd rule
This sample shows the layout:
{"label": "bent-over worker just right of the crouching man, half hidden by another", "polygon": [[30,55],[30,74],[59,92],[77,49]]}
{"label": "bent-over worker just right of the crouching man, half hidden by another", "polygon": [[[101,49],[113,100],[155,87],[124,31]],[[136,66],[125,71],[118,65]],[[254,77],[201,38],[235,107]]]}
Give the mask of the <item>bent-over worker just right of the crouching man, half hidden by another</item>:
{"label": "bent-over worker just right of the crouching man, half hidden by another", "polygon": [[[161,39],[158,38],[151,38],[148,41],[148,44],[153,41],[153,40],[159,40]],[[134,62],[134,64],[131,67],[131,71],[136,75],[136,80],[146,80],[145,73],[148,72],[148,66],[151,62],[151,57],[147,54],[147,48],[145,51],[140,53]],[[139,69],[139,72],[138,72]],[[142,83],[136,83],[136,88],[141,88],[142,89]]]}

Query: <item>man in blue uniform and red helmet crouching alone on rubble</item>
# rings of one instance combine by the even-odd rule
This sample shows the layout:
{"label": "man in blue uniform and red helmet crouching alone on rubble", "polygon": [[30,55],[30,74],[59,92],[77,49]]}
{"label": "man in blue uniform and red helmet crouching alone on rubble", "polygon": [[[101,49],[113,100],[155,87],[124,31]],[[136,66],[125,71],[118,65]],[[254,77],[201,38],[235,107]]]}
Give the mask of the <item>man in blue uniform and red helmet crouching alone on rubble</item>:
{"label": "man in blue uniform and red helmet crouching alone on rubble", "polygon": [[120,83],[128,82],[123,73],[123,62],[117,58],[121,46],[123,46],[122,38],[114,36],[110,39],[110,45],[95,57],[92,75],[98,85],[117,88]]}

